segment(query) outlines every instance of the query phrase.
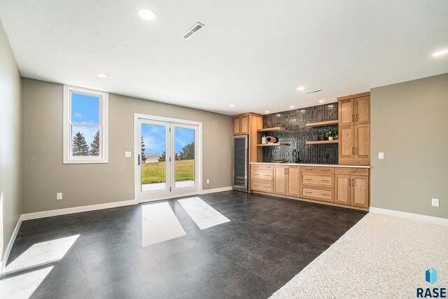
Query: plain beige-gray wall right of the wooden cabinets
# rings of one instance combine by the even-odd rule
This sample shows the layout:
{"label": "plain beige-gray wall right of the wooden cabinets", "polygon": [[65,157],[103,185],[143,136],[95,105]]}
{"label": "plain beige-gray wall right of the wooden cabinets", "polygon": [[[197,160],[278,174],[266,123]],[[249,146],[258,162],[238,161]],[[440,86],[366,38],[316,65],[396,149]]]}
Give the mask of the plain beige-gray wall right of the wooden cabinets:
{"label": "plain beige-gray wall right of the wooden cabinets", "polygon": [[373,88],[370,101],[370,205],[448,218],[448,74]]}

